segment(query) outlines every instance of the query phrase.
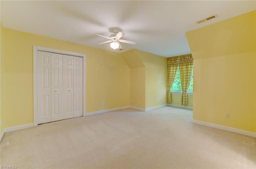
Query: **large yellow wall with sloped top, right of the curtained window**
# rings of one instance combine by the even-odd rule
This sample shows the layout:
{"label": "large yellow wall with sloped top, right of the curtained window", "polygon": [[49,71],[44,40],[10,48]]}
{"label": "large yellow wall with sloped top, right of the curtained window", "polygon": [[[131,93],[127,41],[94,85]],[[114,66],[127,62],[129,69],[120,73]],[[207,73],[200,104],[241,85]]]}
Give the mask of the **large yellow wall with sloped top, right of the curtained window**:
{"label": "large yellow wall with sloped top, right of the curtained window", "polygon": [[186,33],[194,58],[194,120],[256,132],[255,30],[253,11]]}

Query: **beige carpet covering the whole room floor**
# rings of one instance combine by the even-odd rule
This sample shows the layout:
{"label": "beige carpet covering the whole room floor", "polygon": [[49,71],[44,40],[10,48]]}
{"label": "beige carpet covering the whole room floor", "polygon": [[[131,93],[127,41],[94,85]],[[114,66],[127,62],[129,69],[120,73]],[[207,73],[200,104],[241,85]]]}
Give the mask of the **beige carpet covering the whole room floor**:
{"label": "beige carpet covering the whole room floor", "polygon": [[18,169],[256,169],[256,138],[192,124],[192,111],[125,109],[8,132]]}

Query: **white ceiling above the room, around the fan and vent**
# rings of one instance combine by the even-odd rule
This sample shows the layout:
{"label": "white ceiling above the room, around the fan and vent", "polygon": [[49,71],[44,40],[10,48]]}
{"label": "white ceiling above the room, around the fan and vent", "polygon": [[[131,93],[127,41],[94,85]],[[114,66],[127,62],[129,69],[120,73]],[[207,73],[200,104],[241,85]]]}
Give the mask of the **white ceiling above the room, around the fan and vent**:
{"label": "white ceiling above the room, around the fan and vent", "polygon": [[[185,33],[256,10],[256,1],[1,1],[1,24],[36,35],[118,53],[139,49],[171,57],[190,53]],[[196,21],[217,14],[217,18]],[[118,27],[123,50],[110,48],[99,33]]]}

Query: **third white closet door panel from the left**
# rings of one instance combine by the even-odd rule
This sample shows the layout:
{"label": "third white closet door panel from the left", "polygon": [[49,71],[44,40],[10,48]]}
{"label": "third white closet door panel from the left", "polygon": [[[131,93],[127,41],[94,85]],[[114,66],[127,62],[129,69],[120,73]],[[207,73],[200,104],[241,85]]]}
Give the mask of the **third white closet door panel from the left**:
{"label": "third white closet door panel from the left", "polygon": [[73,80],[74,80],[74,57],[63,55],[63,116],[74,117],[73,112]]}

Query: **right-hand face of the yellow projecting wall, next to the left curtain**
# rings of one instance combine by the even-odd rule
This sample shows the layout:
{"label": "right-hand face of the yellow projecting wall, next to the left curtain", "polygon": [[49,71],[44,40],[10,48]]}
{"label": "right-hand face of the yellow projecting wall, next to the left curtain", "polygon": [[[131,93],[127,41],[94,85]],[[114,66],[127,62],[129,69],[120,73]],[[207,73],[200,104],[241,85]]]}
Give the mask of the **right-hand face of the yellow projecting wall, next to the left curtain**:
{"label": "right-hand face of the yellow projecting wall, next to the left curtain", "polygon": [[146,108],[166,104],[167,58],[136,50],[146,67]]}

